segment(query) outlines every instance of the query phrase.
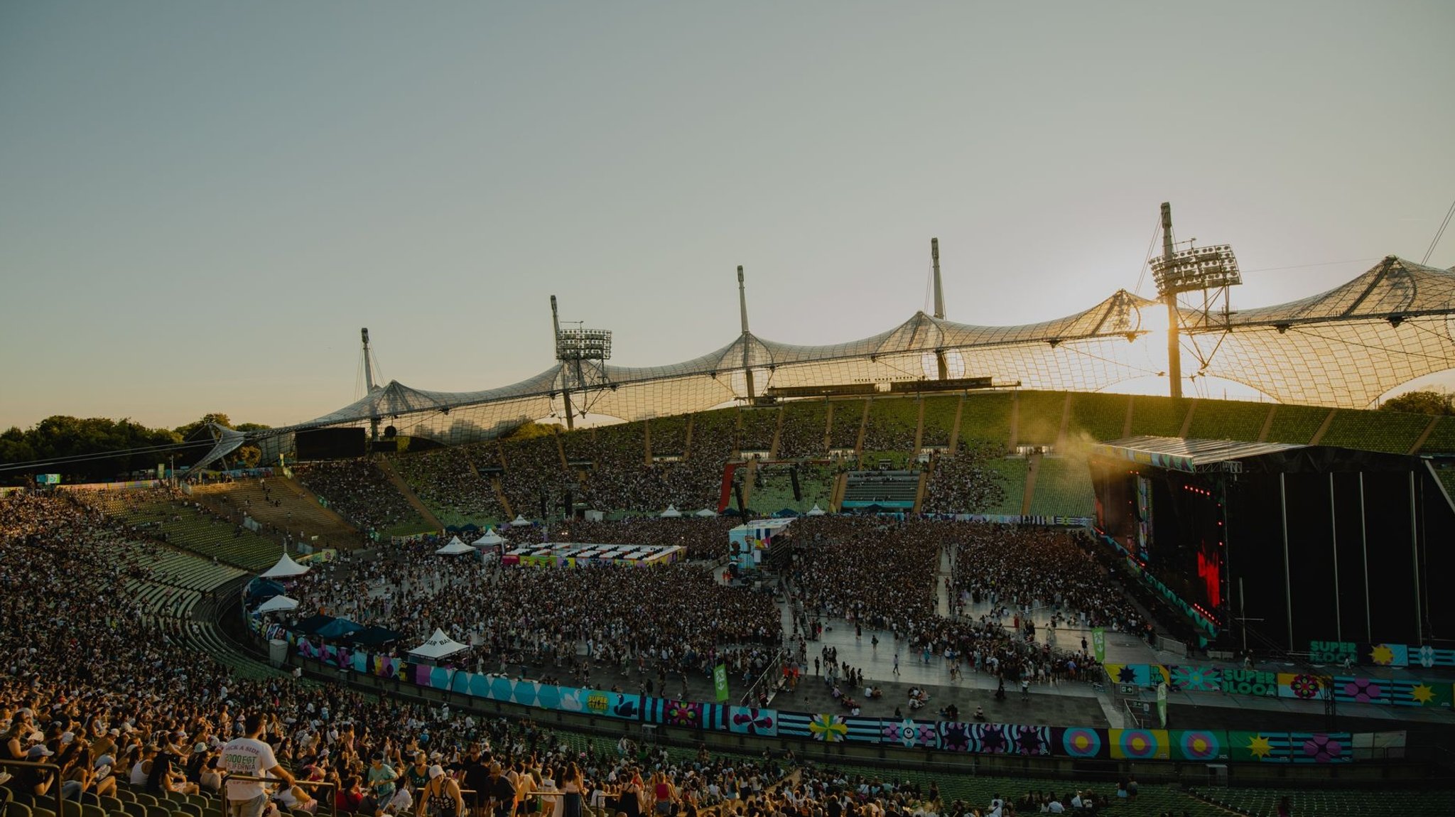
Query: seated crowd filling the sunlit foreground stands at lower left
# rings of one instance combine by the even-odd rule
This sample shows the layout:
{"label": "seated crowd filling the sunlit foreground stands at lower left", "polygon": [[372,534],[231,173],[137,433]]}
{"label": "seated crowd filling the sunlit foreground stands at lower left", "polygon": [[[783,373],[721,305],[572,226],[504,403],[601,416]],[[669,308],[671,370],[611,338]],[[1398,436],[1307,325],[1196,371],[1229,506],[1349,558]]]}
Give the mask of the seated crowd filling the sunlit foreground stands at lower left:
{"label": "seated crowd filling the sunlit foreground stands at lower left", "polygon": [[[783,797],[792,770],[783,759],[610,752],[530,720],[288,675],[240,680],[127,603],[124,581],[144,570],[128,554],[147,547],[70,496],[0,497],[0,753],[60,768],[6,772],[22,802],[44,805],[35,798],[58,788],[99,805],[124,786],[226,797],[247,816],[316,813],[335,797],[340,811],[371,817],[492,807],[508,817],[518,804],[554,801],[605,817],[649,814],[659,802],[681,814],[761,813]],[[278,782],[258,785],[253,802],[255,784],[224,778],[243,772]]]}

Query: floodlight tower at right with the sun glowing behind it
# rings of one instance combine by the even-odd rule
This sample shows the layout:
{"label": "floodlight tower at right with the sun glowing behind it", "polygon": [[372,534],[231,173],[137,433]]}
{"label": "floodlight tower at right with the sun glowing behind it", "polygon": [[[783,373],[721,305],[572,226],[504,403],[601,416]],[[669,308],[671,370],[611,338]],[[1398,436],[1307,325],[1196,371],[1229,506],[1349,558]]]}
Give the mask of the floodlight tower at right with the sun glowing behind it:
{"label": "floodlight tower at right with the sun glowing behind it", "polygon": [[[1211,326],[1209,318],[1218,295],[1222,295],[1222,313],[1227,318],[1228,286],[1243,283],[1232,247],[1228,244],[1195,247],[1192,241],[1186,250],[1174,250],[1173,205],[1163,202],[1163,257],[1152,260],[1152,279],[1157,282],[1157,294],[1167,302],[1167,379],[1173,397],[1181,397],[1181,310],[1177,297],[1183,292],[1202,292],[1202,305],[1197,311],[1200,324],[1206,327]],[[1206,363],[1203,361],[1205,366]]]}

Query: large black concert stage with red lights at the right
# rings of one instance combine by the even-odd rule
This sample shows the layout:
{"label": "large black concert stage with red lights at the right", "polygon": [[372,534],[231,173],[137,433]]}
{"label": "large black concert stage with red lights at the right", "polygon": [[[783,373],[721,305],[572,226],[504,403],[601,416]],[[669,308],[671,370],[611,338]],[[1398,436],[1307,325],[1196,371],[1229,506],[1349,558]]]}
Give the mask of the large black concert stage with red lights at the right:
{"label": "large black concert stage with red lights at the right", "polygon": [[1455,643],[1455,510],[1423,459],[1305,446],[1228,462],[1091,464],[1097,525],[1224,647],[1244,618],[1253,648]]}

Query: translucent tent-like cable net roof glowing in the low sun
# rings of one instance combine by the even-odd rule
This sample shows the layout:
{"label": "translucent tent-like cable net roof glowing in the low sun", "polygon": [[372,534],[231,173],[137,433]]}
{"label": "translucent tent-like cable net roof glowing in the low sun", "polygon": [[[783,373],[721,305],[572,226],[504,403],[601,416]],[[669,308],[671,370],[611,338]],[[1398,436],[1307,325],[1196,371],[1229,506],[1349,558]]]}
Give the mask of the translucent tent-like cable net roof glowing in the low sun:
{"label": "translucent tent-like cable net roof glowing in the low sun", "polygon": [[[1149,318],[1147,317],[1149,315]],[[1247,384],[1285,401],[1365,408],[1413,378],[1455,368],[1455,273],[1390,256],[1359,278],[1276,307],[1205,315],[1183,310],[1183,371]],[[778,343],[745,333],[666,366],[557,363],[486,391],[420,391],[391,381],[316,420],[278,432],[378,419],[399,433],[441,442],[486,439],[572,407],[621,420],[701,411],[770,388],[992,378],[1037,390],[1100,391],[1164,375],[1165,307],[1117,291],[1058,320],[970,326],[917,313],[898,327],[826,346]]]}

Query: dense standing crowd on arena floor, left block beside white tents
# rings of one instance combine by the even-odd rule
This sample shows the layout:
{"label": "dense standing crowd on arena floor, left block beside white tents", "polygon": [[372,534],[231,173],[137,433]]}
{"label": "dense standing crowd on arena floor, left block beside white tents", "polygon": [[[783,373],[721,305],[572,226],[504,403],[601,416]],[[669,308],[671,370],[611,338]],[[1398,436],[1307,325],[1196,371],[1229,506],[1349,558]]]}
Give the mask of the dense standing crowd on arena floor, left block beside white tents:
{"label": "dense standing crowd on arena floor, left block beside white tents", "polygon": [[720,584],[698,566],[441,564],[428,551],[394,545],[370,561],[316,568],[291,590],[300,615],[386,627],[410,645],[442,628],[477,647],[471,661],[480,672],[674,695],[688,677],[710,677],[719,661],[761,672],[781,644],[771,595]]}

